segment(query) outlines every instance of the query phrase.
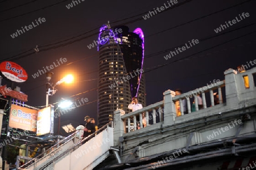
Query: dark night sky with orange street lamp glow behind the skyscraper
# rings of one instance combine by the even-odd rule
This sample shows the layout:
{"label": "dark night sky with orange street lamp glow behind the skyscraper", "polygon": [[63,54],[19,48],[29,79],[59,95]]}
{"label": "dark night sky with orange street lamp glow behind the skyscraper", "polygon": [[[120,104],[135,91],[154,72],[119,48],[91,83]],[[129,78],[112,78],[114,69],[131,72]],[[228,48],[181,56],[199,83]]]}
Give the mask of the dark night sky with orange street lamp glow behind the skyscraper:
{"label": "dark night sky with orange street lamp glow behind the skyscraper", "polygon": [[[75,80],[73,84],[57,86],[58,91],[49,96],[49,103],[61,98],[75,101],[88,98],[89,104],[64,114],[61,122],[84,124],[86,115],[96,118],[97,122],[98,52],[96,47],[89,49],[88,45],[97,40],[101,25],[108,21],[112,27],[127,25],[131,32],[140,27],[144,32],[147,105],[163,100],[163,92],[168,89],[180,88],[187,92],[206,86],[213,79],[223,80],[225,70],[256,59],[256,1],[177,0],[172,5],[166,0],[80,0],[68,9],[69,3],[72,1],[0,0],[0,60],[16,62],[27,71],[27,82],[15,83],[28,95],[26,104],[46,105],[46,76],[33,78],[32,75],[53,62],[57,67],[51,70],[54,73],[51,82],[56,83],[67,74],[73,74]],[[168,8],[143,19],[148,11],[160,9],[164,3]],[[243,12],[249,16],[241,19]],[[239,22],[232,24],[236,17]],[[39,18],[45,21],[36,24]],[[218,33],[214,31],[229,21],[232,25]],[[32,22],[35,27],[32,25],[15,38],[10,36]],[[164,59],[171,50],[181,48],[192,39],[198,39],[199,43]],[[60,58],[67,58],[67,62],[59,65]],[[5,80],[4,84],[10,86]]]}

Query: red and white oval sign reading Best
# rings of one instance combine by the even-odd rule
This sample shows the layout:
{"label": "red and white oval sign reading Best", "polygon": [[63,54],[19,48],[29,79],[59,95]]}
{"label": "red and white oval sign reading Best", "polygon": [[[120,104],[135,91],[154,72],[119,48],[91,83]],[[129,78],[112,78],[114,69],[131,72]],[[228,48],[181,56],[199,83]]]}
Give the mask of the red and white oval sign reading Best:
{"label": "red and white oval sign reading Best", "polygon": [[26,71],[17,63],[11,61],[4,61],[0,64],[0,71],[5,78],[22,83],[28,78]]}

